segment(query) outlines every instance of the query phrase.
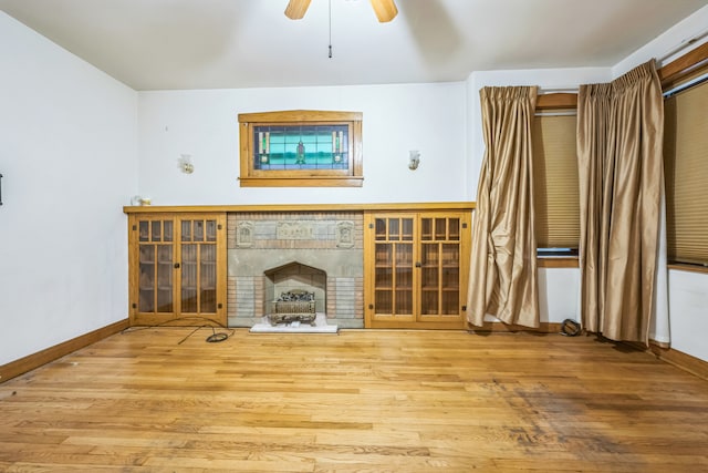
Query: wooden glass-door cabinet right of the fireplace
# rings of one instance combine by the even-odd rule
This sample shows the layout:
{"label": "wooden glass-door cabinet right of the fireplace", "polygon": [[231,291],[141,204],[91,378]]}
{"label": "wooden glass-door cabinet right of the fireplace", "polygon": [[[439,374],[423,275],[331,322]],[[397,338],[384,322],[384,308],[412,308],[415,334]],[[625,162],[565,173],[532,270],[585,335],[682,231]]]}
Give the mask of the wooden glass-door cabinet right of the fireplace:
{"label": "wooden glass-door cabinet right of the fireplace", "polygon": [[364,227],[367,328],[466,326],[469,213],[367,213]]}

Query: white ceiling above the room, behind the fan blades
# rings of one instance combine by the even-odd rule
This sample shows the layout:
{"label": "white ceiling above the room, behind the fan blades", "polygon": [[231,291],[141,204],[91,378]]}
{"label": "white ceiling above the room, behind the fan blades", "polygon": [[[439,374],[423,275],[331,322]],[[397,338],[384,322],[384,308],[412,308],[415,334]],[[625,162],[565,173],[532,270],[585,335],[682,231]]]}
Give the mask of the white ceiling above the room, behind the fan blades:
{"label": "white ceiling above the room, behind the fan blades", "polygon": [[[331,37],[333,56],[327,56]],[[135,90],[464,81],[473,71],[613,66],[708,0],[0,0]]]}

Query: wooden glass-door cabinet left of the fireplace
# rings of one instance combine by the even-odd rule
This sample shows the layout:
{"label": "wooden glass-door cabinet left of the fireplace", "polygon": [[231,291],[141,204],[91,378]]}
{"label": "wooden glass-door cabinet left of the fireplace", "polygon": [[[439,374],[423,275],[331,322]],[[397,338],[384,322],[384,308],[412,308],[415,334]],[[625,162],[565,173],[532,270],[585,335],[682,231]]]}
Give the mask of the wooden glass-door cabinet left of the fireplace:
{"label": "wooden glass-door cabinet left of the fireplace", "polygon": [[226,326],[226,214],[128,218],[131,325]]}

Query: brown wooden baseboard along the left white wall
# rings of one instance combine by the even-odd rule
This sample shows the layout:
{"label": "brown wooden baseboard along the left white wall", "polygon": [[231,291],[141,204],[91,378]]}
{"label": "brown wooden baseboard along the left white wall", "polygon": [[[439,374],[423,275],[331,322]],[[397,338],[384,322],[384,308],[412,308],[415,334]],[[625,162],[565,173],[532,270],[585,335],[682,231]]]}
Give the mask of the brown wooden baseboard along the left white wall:
{"label": "brown wooden baseboard along the left white wall", "polygon": [[69,353],[80,350],[84,347],[88,347],[92,343],[108,338],[112,335],[118,333],[122,330],[128,328],[128,319],[118,320],[108,326],[90,331],[71,340],[66,340],[62,343],[46,348],[37,353],[28,354],[14,361],[10,361],[7,364],[0,367],[0,383],[23,374],[28,371],[37,369],[43,364],[62,358]]}

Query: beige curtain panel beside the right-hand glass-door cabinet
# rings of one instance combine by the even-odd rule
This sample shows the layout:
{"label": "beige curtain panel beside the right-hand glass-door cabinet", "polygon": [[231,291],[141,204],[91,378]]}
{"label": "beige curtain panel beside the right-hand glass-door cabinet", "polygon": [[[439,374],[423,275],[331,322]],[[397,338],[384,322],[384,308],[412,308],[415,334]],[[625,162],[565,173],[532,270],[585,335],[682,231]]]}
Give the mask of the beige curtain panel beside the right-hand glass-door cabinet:
{"label": "beige curtain panel beside the right-hand glass-door cabinet", "polygon": [[490,313],[539,326],[531,128],[537,88],[480,91],[485,160],[479,176],[467,319]]}

